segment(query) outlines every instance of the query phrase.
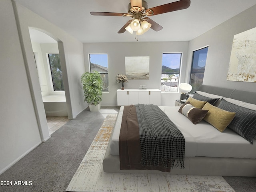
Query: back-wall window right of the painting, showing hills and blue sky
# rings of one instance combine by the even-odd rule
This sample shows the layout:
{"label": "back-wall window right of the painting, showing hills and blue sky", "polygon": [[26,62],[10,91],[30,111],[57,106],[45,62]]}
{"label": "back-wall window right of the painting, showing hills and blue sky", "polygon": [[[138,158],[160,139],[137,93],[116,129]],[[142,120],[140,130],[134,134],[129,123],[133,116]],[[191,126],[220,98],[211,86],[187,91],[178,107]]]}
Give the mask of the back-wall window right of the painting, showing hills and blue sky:
{"label": "back-wall window right of the painting, showing hills and blue sky", "polygon": [[161,91],[178,92],[181,53],[163,53]]}

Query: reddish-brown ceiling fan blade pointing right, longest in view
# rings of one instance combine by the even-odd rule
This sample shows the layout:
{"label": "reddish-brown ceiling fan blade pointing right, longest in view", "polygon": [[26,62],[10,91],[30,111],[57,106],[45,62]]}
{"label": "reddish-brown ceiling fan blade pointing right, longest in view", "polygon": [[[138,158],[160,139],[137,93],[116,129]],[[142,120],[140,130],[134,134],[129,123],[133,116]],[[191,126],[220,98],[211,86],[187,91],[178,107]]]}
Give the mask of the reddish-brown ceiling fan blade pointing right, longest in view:
{"label": "reddish-brown ceiling fan blade pointing right, longest in view", "polygon": [[[158,15],[158,14],[162,14],[162,13],[168,13],[168,12],[172,12],[172,11],[186,9],[189,6],[190,6],[190,0],[180,0],[180,1],[172,2],[172,3],[156,6],[153,8],[149,8],[146,10],[146,12],[148,12],[149,10],[152,10],[154,12],[153,15]],[[150,15],[148,15],[148,16],[150,16]]]}

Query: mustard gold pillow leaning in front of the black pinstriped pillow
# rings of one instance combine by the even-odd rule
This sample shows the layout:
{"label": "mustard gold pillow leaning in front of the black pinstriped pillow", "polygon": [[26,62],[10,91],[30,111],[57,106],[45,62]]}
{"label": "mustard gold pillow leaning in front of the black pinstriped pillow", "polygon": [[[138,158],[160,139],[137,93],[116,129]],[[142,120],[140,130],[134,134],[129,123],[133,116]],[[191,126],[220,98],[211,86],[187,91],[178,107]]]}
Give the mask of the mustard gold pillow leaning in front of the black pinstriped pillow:
{"label": "mustard gold pillow leaning in front of the black pinstriped pillow", "polygon": [[232,121],[235,114],[234,112],[225,111],[216,106],[211,105],[210,103],[206,103],[203,110],[209,110],[204,120],[218,129],[220,132],[223,132],[228,124]]}

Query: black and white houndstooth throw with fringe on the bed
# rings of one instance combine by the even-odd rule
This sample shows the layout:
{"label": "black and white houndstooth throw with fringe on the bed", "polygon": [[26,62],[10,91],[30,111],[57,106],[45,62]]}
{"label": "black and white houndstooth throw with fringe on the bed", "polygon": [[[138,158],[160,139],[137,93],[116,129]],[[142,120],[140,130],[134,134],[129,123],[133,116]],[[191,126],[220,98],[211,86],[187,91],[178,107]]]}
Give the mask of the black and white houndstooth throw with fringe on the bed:
{"label": "black and white houndstooth throw with fringe on the bed", "polygon": [[[135,105],[138,117],[142,166],[184,168],[185,138],[156,105]],[[174,165],[174,163],[176,164]]]}

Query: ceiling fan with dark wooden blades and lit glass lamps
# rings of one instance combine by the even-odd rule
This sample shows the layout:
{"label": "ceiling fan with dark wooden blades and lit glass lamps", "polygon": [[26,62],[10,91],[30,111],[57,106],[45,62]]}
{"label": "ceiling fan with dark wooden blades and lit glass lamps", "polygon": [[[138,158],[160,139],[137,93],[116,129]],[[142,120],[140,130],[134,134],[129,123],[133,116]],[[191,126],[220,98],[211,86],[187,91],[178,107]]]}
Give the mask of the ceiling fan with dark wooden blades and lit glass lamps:
{"label": "ceiling fan with dark wooden blades and lit glass lamps", "polygon": [[188,8],[189,6],[190,0],[180,0],[153,8],[148,8],[148,4],[145,0],[130,0],[130,3],[128,4],[128,13],[90,12],[90,14],[98,16],[131,17],[132,19],[126,22],[118,33],[124,33],[127,30],[131,34],[136,31],[137,35],[141,35],[150,28],[155,31],[160,31],[163,28],[147,16],[182,10]]}

